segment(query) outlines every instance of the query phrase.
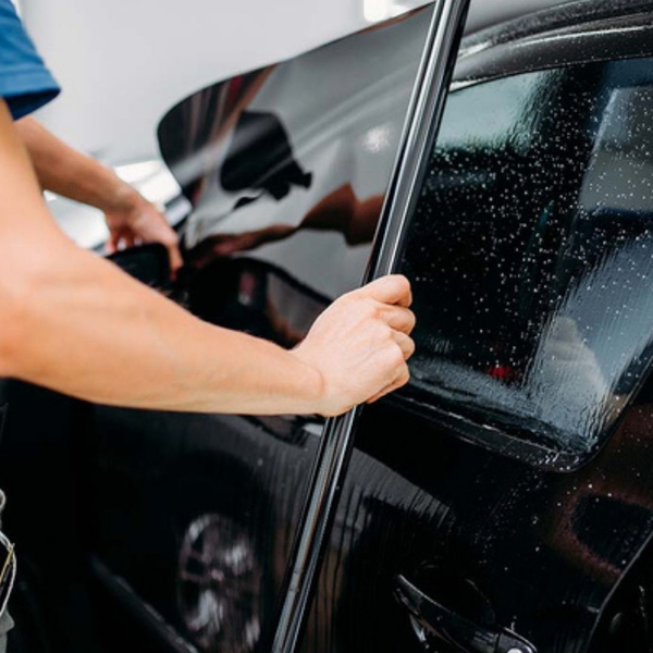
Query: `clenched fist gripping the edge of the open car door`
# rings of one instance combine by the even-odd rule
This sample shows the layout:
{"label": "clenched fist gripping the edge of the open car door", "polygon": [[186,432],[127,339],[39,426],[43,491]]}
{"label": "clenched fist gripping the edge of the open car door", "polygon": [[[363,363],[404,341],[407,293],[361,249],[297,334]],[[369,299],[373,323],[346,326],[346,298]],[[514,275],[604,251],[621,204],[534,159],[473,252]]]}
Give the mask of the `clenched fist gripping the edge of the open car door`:
{"label": "clenched fist gripping the edge of the open car door", "polygon": [[292,352],[321,377],[317,412],[341,415],[408,382],[406,361],[415,352],[410,304],[408,280],[384,276],[343,295],[318,318]]}

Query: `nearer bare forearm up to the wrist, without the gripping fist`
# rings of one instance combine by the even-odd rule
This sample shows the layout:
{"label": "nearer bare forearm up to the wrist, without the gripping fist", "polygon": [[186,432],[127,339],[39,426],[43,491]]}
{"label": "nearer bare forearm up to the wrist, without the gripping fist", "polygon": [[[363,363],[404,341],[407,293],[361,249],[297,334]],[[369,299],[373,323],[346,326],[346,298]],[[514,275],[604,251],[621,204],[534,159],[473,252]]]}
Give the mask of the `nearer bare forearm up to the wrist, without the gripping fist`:
{"label": "nearer bare forearm up to the wrist, without the gripping fist", "polygon": [[0,100],[0,374],[94,402],[171,410],[320,411],[292,353],[212,326],[58,229]]}

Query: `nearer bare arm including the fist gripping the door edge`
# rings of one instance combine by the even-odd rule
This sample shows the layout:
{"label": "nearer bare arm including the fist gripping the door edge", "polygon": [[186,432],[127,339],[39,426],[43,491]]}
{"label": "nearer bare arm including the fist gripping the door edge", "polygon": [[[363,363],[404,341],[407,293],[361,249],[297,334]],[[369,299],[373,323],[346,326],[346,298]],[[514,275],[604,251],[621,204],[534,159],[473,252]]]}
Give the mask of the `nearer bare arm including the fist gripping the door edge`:
{"label": "nearer bare arm including the fist gripping the door edge", "polygon": [[286,352],[204,323],[57,227],[0,101],[0,374],[112,405],[335,415],[408,380],[408,283],[337,300]]}

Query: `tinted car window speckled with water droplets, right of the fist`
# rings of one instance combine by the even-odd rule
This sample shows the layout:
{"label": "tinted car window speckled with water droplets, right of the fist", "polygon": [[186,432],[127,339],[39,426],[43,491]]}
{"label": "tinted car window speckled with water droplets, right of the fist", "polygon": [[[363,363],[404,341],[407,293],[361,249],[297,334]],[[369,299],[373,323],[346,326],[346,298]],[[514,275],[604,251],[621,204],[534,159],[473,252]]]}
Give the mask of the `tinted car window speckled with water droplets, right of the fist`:
{"label": "tinted car window speckled with water droplets, right of the fist", "polygon": [[633,395],[653,354],[651,63],[449,96],[404,251],[420,405],[583,455]]}

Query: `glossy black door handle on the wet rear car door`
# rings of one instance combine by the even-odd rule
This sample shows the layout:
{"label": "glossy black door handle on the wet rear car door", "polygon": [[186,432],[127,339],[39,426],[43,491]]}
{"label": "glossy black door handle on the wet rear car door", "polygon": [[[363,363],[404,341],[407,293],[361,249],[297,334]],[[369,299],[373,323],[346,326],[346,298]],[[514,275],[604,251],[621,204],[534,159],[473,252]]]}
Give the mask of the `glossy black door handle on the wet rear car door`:
{"label": "glossy black door handle on the wet rear car door", "polygon": [[537,653],[535,648],[514,632],[489,628],[448,609],[427,596],[404,576],[397,576],[395,595],[414,623],[427,633],[464,653]]}

